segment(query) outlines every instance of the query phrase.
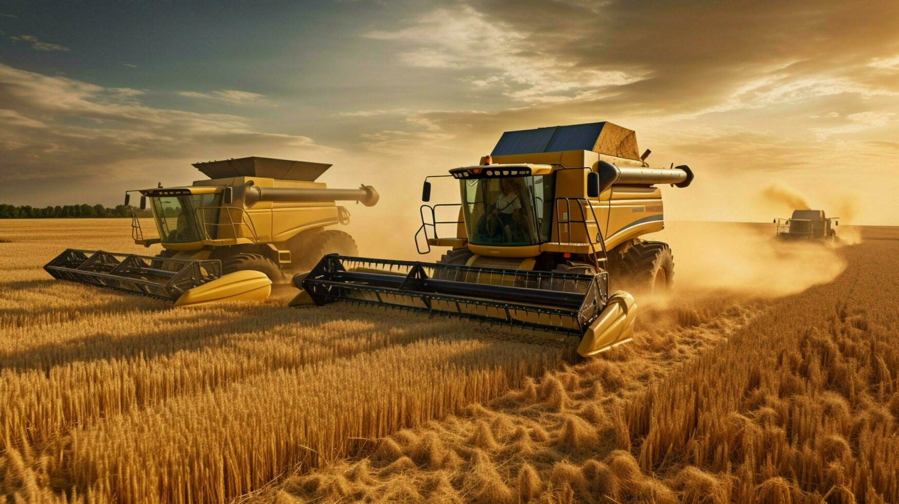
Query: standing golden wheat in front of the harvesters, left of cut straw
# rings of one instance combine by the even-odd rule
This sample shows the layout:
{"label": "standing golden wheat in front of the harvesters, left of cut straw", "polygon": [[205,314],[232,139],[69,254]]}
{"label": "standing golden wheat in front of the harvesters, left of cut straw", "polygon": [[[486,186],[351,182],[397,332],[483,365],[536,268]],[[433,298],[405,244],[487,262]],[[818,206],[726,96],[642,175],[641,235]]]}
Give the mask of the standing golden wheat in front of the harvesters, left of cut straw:
{"label": "standing golden wheat in front of the harvesters, left of cut straw", "polygon": [[39,268],[62,247],[147,251],[121,238],[127,221],[50,240],[57,222],[15,224],[0,251],[0,495],[13,500],[228,500],[570,354],[472,338],[491,331],[458,320],[289,309],[290,293],[185,311],[54,282]]}

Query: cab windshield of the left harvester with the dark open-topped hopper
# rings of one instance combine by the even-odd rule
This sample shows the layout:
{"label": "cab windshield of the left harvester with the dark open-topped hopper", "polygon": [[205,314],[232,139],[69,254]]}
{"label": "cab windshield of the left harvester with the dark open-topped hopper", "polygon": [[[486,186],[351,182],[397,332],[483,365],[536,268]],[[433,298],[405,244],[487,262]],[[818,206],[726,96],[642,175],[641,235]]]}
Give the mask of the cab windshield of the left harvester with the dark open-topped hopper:
{"label": "cab windshield of the left harvester with the dark open-topped hopper", "polygon": [[[207,232],[208,238],[216,238],[217,222],[209,222],[209,219],[218,219],[218,211],[207,210],[221,206],[221,193],[162,196],[150,198],[150,201],[163,243],[200,241],[207,238]],[[205,232],[198,225],[198,214],[205,220]]]}

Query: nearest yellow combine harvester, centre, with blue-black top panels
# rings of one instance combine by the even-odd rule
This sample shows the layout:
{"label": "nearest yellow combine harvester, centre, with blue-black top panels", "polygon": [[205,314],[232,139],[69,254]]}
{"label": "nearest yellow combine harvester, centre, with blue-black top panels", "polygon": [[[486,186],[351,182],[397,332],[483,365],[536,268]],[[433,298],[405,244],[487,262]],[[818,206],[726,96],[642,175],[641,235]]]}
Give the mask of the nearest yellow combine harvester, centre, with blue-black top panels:
{"label": "nearest yellow combine harvester, centre, with blue-black top panels", "polygon": [[639,237],[663,229],[655,184],[693,179],[688,166],[648,167],[648,154],[609,122],[507,131],[480,164],[425,179],[424,202],[433,176],[457,179],[461,195],[422,206],[419,252],[451,247],[438,263],[323,257],[294,276],[290,304],[349,300],[539,329],[579,338],[581,356],[617,346],[633,333],[636,304],[609,292],[610,272],[671,284],[670,248]]}

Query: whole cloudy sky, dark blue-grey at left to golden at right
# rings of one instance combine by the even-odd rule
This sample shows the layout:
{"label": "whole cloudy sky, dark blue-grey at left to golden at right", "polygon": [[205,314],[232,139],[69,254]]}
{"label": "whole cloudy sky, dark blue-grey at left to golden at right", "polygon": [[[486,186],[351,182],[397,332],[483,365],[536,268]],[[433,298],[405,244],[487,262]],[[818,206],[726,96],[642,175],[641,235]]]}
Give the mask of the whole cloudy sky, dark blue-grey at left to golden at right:
{"label": "whole cloudy sky, dark blue-grey at left to golden at right", "polygon": [[263,156],[417,220],[423,176],[504,130],[612,121],[695,172],[668,219],[787,216],[776,184],[899,225],[897,27],[895,0],[0,0],[0,202],[114,205]]}

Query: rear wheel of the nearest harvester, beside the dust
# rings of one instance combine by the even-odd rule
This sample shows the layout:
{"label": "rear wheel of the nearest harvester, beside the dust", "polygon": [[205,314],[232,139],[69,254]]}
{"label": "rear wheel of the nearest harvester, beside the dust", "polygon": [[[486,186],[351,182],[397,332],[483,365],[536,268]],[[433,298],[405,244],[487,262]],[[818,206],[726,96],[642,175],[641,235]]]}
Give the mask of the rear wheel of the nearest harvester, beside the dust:
{"label": "rear wheel of the nearest harvester, beside the dust", "polygon": [[628,248],[619,261],[619,282],[650,293],[670,291],[674,283],[674,256],[661,241],[641,241]]}

